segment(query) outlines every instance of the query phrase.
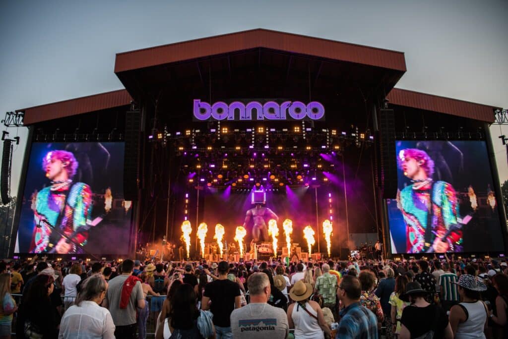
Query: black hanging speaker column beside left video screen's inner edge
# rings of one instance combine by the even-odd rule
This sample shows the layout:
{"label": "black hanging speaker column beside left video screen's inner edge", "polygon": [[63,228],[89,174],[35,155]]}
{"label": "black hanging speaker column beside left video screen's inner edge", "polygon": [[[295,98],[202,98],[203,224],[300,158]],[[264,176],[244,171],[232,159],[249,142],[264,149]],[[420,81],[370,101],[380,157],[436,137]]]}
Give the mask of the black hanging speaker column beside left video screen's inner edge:
{"label": "black hanging speaker column beside left video screen's inner edge", "polygon": [[140,112],[125,113],[125,156],[123,159],[123,197],[138,199],[138,163],[140,147]]}

